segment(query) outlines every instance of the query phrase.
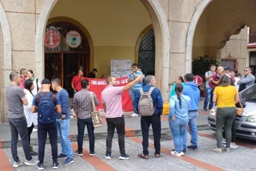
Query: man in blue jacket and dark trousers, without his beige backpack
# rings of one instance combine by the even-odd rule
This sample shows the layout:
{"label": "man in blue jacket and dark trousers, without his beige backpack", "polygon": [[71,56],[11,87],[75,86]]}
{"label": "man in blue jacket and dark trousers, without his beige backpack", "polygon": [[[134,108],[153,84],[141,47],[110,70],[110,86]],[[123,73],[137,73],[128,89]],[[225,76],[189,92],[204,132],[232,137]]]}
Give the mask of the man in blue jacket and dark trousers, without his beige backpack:
{"label": "man in blue jacket and dark trousers, without his beige backpack", "polygon": [[[146,76],[146,86],[142,88],[143,92],[149,92],[150,88],[155,87],[155,77],[153,75]],[[138,103],[140,101],[140,91],[136,92],[136,98],[134,103],[136,110],[138,111]],[[154,88],[151,93],[153,105],[155,107],[155,113],[152,116],[141,116],[140,124],[142,129],[142,146],[143,153],[139,154],[138,157],[142,159],[149,159],[149,127],[152,125],[154,146],[155,146],[155,157],[160,157],[160,138],[161,138],[161,115],[163,113],[163,99],[161,92],[158,88]]]}

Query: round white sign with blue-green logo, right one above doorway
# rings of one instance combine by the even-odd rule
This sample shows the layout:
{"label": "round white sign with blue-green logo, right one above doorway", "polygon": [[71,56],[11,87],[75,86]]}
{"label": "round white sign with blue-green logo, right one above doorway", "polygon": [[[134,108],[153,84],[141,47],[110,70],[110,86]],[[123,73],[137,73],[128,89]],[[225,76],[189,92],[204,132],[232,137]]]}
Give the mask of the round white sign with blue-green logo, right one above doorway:
{"label": "round white sign with blue-green logo, right one above doorway", "polygon": [[71,48],[79,47],[81,44],[81,34],[75,30],[68,31],[66,34],[66,44]]}

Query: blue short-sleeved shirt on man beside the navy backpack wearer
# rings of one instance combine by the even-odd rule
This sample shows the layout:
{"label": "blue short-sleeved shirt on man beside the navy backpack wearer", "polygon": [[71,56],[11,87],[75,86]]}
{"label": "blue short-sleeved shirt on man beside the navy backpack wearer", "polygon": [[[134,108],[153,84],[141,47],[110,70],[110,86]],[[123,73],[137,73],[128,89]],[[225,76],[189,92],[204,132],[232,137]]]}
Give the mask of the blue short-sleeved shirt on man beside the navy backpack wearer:
{"label": "blue short-sleeved shirt on man beside the navy backpack wearer", "polygon": [[65,89],[62,89],[60,90],[60,92],[57,92],[56,95],[58,100],[60,101],[60,106],[62,107],[62,113],[61,114],[56,113],[56,118],[61,119],[62,115],[66,115],[66,119],[71,118],[68,110],[68,103],[69,103],[68,92]]}

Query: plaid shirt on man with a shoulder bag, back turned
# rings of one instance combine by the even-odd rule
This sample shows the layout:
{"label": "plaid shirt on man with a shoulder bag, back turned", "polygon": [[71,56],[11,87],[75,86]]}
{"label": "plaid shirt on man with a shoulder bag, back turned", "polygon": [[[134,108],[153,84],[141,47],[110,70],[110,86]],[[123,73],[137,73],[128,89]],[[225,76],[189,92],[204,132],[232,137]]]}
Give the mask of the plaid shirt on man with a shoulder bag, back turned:
{"label": "plaid shirt on man with a shoulder bag, back turned", "polygon": [[[99,105],[97,96],[92,92],[95,106]],[[82,89],[77,92],[73,98],[73,109],[77,110],[79,119],[86,119],[92,117],[92,98],[90,92],[87,89]]]}

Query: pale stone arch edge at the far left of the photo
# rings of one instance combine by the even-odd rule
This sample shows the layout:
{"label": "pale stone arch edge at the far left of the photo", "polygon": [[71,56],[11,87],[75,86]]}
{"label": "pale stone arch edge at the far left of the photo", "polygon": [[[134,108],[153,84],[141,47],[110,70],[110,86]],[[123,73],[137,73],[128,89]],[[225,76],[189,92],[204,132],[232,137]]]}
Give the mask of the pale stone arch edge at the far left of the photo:
{"label": "pale stone arch edge at the far left of the photo", "polygon": [[0,41],[1,41],[1,59],[0,59],[0,120],[7,121],[4,88],[10,83],[9,74],[12,71],[12,47],[11,47],[11,32],[8,23],[8,18],[0,2]]}

